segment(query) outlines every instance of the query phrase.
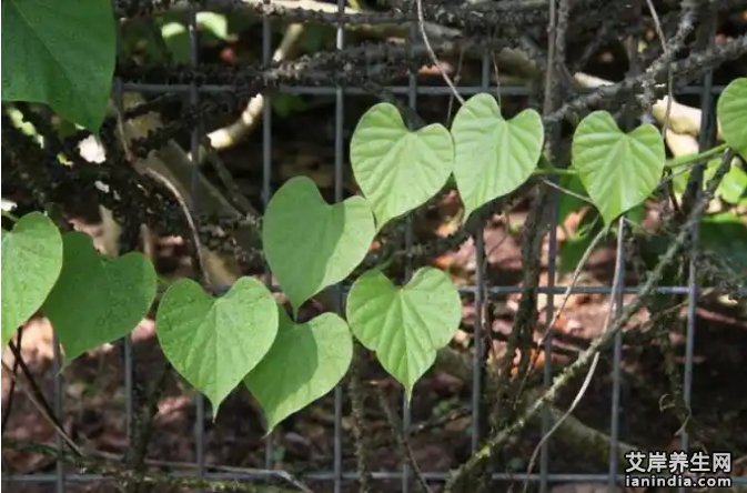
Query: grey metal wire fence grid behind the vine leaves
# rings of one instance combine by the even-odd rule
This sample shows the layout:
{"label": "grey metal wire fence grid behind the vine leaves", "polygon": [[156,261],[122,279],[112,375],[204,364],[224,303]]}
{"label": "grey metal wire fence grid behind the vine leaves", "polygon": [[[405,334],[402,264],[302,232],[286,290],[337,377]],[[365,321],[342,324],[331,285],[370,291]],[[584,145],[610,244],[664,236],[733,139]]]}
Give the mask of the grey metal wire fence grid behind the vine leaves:
{"label": "grey metal wire fence grid behind the vine leaves", "polygon": [[[265,4],[272,3],[271,0],[264,0]],[[342,16],[345,8],[345,0],[337,0],[337,13]],[[232,4],[232,10],[236,9],[235,4]],[[198,9],[194,3],[190,3],[188,10],[188,29],[189,29],[189,39],[190,39],[190,66],[199,67],[199,39],[198,39],[198,21],[196,21]],[[341,17],[342,19],[342,17]],[[262,18],[262,60],[264,63],[270,63],[272,58],[272,37],[271,28],[272,20],[270,17],[264,16]],[[336,26],[336,41],[335,49],[341,51],[345,48],[345,31],[344,24],[346,21],[341,20]],[[704,24],[700,27],[701,31],[705,30],[707,39],[713,40],[715,36],[716,26],[715,22],[709,24]],[[407,44],[412,46],[417,41],[418,34],[416,31],[416,24],[411,22],[410,26],[410,39]],[[474,94],[478,92],[485,92],[488,90],[497,91],[502,97],[525,97],[531,93],[529,89],[526,87],[494,87],[491,88],[491,70],[492,61],[489,59],[489,53],[485,52],[482,56],[482,74],[481,83],[478,85],[461,85],[457,87],[458,91],[462,94]],[[215,85],[215,84],[203,84],[198,85],[195,82],[190,84],[158,84],[158,83],[139,83],[139,82],[128,82],[122,81],[119,78],[115,78],[113,85],[113,98],[118,108],[121,109],[122,105],[122,94],[128,91],[142,92],[142,93],[182,93],[186,97],[189,104],[196,107],[200,103],[201,94],[204,93],[221,93],[221,92],[231,92],[235,88],[231,85]],[[447,87],[421,87],[417,83],[416,73],[413,71],[410,72],[407,85],[392,85],[386,88],[392,93],[397,95],[404,95],[407,98],[407,103],[410,108],[416,109],[418,95],[441,95],[448,97],[452,92]],[[713,130],[715,125],[715,114],[714,114],[714,97],[721,92],[724,88],[720,85],[715,85],[713,82],[713,73],[707,73],[698,84],[687,85],[679,88],[676,92],[677,94],[696,94],[700,98],[700,108],[703,110],[703,120],[701,128],[704,131],[700,133],[700,147],[707,149],[713,144]],[[276,92],[280,93],[292,93],[292,94],[324,94],[324,95],[334,95],[334,149],[335,149],[335,159],[334,159],[334,193],[335,200],[343,200],[343,175],[344,175],[344,138],[343,138],[343,110],[345,104],[345,98],[349,95],[357,94],[367,94],[363,88],[353,88],[353,87],[340,87],[340,85],[327,85],[327,87],[309,87],[309,85],[281,85]],[[272,177],[272,108],[270,104],[272,95],[265,94],[265,104],[263,107],[262,114],[262,200],[266,205],[270,197],[272,194],[271,190],[271,177]],[[646,115],[644,115],[644,119]],[[190,148],[191,157],[198,157],[199,145],[201,138],[203,135],[203,128],[201,121],[192,129]],[[194,164],[193,173],[193,191],[195,190],[196,184],[196,170],[198,164]],[[557,191],[555,189],[548,188],[548,193],[553,194],[553,209],[557,212]],[[194,197],[194,194],[193,194]],[[199,211],[199,203],[193,204],[193,212]],[[557,214],[555,214],[557,215]],[[406,244],[411,245],[413,241],[412,234],[412,224],[407,223],[407,231],[405,238]],[[698,241],[698,229],[695,228],[692,233],[692,248],[697,249]],[[483,439],[480,435],[480,426],[477,425],[481,420],[484,417],[480,415],[480,399],[482,391],[482,368],[484,364],[481,358],[477,358],[477,354],[482,353],[483,344],[483,326],[484,320],[482,316],[482,306],[486,299],[494,299],[501,295],[514,294],[523,292],[523,288],[519,285],[492,285],[488,286],[485,283],[485,243],[482,231],[475,235],[475,250],[476,250],[476,272],[475,272],[475,284],[462,288],[460,291],[463,295],[473,295],[475,303],[475,324],[474,324],[474,343],[475,351],[473,354],[473,379],[472,379],[472,410],[471,410],[471,444],[472,451],[475,452]],[[537,290],[538,293],[547,295],[547,304],[545,306],[545,320],[547,323],[553,319],[553,313],[555,312],[556,303],[555,295],[564,294],[567,286],[556,285],[555,284],[555,274],[556,274],[556,255],[558,252],[558,241],[556,237],[556,228],[549,229],[549,239],[548,239],[548,262],[547,262],[547,283],[541,285]],[[625,269],[625,259],[624,250],[622,243],[622,235],[618,235],[618,242],[616,245],[616,264],[618,269]],[[408,278],[412,273],[412,265],[407,263],[405,269],[405,276]],[[656,288],[656,292],[660,294],[672,294],[672,295],[687,295],[687,332],[686,332],[686,352],[685,352],[685,362],[684,362],[684,400],[687,405],[690,404],[693,398],[693,350],[694,342],[696,338],[696,320],[695,320],[695,309],[699,292],[699,286],[696,282],[697,265],[695,262],[690,262],[688,265],[688,283],[687,285],[662,285]],[[620,276],[623,279],[624,276]],[[271,282],[270,273],[265,275],[267,283]],[[626,293],[636,293],[639,286],[637,285],[625,285],[623,282],[619,285],[595,285],[595,286],[573,286],[571,290],[572,294],[606,294],[610,295],[615,300],[616,312],[618,313],[623,309],[623,295]],[[336,309],[342,311],[345,292],[342,286],[336,289]],[[132,342],[129,338],[123,340],[123,360],[124,360],[124,375],[123,384],[127,393],[125,401],[125,430],[128,436],[131,436],[132,430],[132,420],[133,420],[133,348]],[[545,341],[545,351],[547,354],[552,350],[552,339],[547,338]],[[538,487],[538,491],[546,492],[552,484],[555,483],[582,483],[582,482],[595,482],[595,483],[606,483],[609,489],[614,489],[616,485],[620,485],[623,481],[623,474],[618,466],[617,457],[617,446],[619,443],[619,412],[620,412],[620,363],[622,363],[622,333],[618,333],[614,341],[614,348],[612,349],[612,395],[609,396],[609,437],[610,437],[610,449],[609,449],[609,466],[607,473],[551,473],[549,472],[549,462],[552,457],[548,453],[547,443],[545,442],[541,449],[541,456],[538,461],[538,473],[536,474],[523,474],[523,473],[494,473],[492,475],[493,480],[496,482],[517,482],[517,481],[528,481],[535,484]],[[551,358],[545,358],[544,360],[544,384],[548,386],[552,381],[552,369],[551,369]],[[58,341],[54,340],[54,361],[53,361],[53,372],[57,375],[54,378],[54,389],[53,389],[53,409],[57,415],[62,415],[63,412],[63,395],[64,395],[64,375],[59,372],[60,370],[60,348]],[[226,472],[209,472],[209,465],[205,462],[205,405],[204,399],[199,395],[194,402],[196,416],[195,416],[195,426],[194,426],[194,464],[196,465],[194,473],[182,473],[174,472],[175,477],[195,477],[195,479],[214,479],[214,480],[236,480],[236,481],[258,481],[258,480],[267,480],[273,477],[280,477],[280,472],[274,470],[273,466],[273,444],[271,440],[267,440],[265,443],[265,463],[264,470],[251,474],[244,473],[226,473]],[[403,396],[402,400],[402,424],[405,430],[408,429],[411,424],[411,411],[406,404],[406,400]],[[342,416],[343,416],[343,394],[342,388],[337,385],[334,390],[334,453],[331,469],[327,471],[312,472],[301,475],[303,480],[313,481],[315,484],[324,484],[331,486],[335,493],[342,491],[343,485],[349,485],[357,479],[356,472],[343,470],[343,430],[342,430]],[[547,412],[543,414],[542,420],[542,433],[543,435],[549,430],[551,421]],[[688,450],[688,436],[687,433],[682,435],[682,449]],[[57,436],[57,446],[61,450],[63,443],[61,437]],[[424,471],[424,477],[428,482],[434,484],[443,483],[447,476],[447,471]],[[400,471],[378,471],[372,472],[372,477],[375,481],[386,480],[386,481],[396,481],[401,480],[401,491],[408,492],[413,489],[413,477],[412,472],[407,465],[403,465]],[[6,483],[43,483],[54,486],[55,492],[64,492],[67,485],[75,483],[95,483],[95,482],[105,482],[107,477],[99,474],[71,474],[67,473],[62,461],[58,461],[55,473],[44,473],[44,474],[23,474],[23,475],[8,475],[3,474],[2,482]],[[733,477],[734,484],[746,484],[747,477]],[[326,490],[325,490],[326,491]]]}

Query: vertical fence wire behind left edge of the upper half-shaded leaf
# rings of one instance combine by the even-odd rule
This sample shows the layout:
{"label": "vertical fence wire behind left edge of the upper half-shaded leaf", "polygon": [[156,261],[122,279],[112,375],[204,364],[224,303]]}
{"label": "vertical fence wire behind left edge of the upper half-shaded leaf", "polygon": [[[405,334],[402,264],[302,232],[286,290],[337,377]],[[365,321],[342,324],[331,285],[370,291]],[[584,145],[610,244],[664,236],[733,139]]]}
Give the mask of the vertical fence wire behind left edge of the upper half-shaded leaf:
{"label": "vertical fence wire behind left edge of the upper half-shaded leaf", "polygon": [[[270,0],[263,0],[265,6]],[[272,22],[267,16],[262,17],[262,63],[267,67],[272,61]],[[267,210],[270,202],[271,179],[272,179],[272,97],[267,93],[263,95],[262,105],[262,203],[264,210]],[[264,283],[272,285],[272,273],[265,264]],[[274,469],[273,461],[273,436],[274,433],[267,433],[264,442],[264,466]]]}

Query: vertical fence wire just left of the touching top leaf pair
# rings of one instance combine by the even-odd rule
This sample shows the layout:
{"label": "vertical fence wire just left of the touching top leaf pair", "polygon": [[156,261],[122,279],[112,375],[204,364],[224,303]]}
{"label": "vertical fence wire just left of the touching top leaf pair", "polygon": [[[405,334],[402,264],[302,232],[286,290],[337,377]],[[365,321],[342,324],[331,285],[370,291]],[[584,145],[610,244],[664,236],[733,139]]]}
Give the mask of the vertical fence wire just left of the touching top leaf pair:
{"label": "vertical fence wire just left of the touching top leaf pair", "polygon": [[[337,13],[342,14],[345,11],[345,0],[337,0]],[[335,49],[342,51],[345,48],[345,32],[343,23],[337,23]],[[341,85],[335,88],[334,101],[334,200],[341,202],[343,200],[343,184],[344,184],[344,141],[343,141],[343,123],[344,123],[344,91]],[[343,310],[343,293],[342,286],[337,284],[334,293],[335,311],[341,313]],[[356,364],[356,362],[353,362]],[[334,493],[342,491],[342,404],[343,404],[342,385],[337,384],[334,388]]]}

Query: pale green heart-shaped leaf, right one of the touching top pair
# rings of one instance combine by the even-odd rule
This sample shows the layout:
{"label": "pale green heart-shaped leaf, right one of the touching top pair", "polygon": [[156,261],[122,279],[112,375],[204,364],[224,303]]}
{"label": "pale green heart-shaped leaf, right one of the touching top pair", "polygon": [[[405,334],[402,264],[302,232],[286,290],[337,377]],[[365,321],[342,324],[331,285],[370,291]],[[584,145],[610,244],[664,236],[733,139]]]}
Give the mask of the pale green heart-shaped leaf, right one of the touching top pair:
{"label": "pale green heart-shaped leaf, right one of the touching top pair", "polygon": [[464,219],[493,199],[521,187],[537,167],[544,141],[542,118],[524,110],[511,120],[501,115],[491,94],[476,94],[452,125],[454,178],[464,202]]}

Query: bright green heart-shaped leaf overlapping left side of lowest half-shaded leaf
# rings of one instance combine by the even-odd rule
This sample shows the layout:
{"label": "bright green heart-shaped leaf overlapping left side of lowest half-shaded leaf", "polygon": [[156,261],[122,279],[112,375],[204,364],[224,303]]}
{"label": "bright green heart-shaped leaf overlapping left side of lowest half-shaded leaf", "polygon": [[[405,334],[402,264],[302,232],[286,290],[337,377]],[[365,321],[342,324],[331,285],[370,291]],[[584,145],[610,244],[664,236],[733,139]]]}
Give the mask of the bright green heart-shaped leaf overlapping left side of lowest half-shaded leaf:
{"label": "bright green heart-shaped leaf overlapping left side of lowest half-shaded leaf", "polygon": [[221,402],[264,358],[277,333],[270,291],[253,278],[239,279],[213,299],[196,282],[172,284],[161,300],[155,331],[176,371],[204,393],[218,415]]}

